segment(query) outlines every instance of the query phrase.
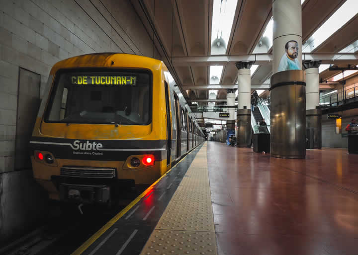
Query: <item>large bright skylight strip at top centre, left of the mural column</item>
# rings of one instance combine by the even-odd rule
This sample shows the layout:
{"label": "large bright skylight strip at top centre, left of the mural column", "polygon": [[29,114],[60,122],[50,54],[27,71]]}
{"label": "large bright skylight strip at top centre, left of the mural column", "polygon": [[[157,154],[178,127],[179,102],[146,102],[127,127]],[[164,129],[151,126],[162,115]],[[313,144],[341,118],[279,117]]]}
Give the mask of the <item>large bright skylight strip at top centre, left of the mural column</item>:
{"label": "large bright skylight strip at top centre, left of the mural column", "polygon": [[[217,51],[212,48],[211,55],[225,54],[227,43],[233,26],[237,0],[214,0],[212,25],[211,25],[211,45],[215,40]],[[224,48],[220,50],[221,42]]]}

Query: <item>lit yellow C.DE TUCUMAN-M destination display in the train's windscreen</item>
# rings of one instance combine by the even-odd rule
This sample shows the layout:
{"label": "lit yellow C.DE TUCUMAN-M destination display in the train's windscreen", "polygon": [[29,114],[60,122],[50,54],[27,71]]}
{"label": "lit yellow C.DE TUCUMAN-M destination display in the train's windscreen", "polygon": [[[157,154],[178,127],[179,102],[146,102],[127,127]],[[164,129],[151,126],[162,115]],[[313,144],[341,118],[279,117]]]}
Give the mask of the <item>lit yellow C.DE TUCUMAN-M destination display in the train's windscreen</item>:
{"label": "lit yellow C.DE TUCUMAN-M destination display in the train's windscreen", "polygon": [[71,76],[71,83],[76,85],[135,85],[136,76]]}

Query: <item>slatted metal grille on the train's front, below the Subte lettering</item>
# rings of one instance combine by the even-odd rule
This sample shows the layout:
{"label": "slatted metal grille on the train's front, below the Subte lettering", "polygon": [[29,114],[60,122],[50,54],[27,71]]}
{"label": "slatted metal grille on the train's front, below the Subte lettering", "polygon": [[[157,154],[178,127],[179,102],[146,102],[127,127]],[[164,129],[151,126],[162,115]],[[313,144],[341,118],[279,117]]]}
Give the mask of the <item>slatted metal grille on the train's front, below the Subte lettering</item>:
{"label": "slatted metal grille on the train's front, below the Subte lettering", "polygon": [[115,168],[62,167],[61,176],[77,178],[114,178]]}

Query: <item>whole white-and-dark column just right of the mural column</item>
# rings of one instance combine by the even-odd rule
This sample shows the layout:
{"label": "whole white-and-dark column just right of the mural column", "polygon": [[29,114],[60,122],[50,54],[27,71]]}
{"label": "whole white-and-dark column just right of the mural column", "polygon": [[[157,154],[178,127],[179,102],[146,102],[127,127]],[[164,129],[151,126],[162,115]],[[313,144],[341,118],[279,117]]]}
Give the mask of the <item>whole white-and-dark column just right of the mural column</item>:
{"label": "whole white-and-dark column just right of the mural column", "polygon": [[[305,62],[306,67],[306,128],[313,134],[313,148],[322,148],[322,112],[319,107],[319,70],[321,61]],[[313,132],[312,132],[313,130]],[[312,138],[311,138],[312,139]]]}

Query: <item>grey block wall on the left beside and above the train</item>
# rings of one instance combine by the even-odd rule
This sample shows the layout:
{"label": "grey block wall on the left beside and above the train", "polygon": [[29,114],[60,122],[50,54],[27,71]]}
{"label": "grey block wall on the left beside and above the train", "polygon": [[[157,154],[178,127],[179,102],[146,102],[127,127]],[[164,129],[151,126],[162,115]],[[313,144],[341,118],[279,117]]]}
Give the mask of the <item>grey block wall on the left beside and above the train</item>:
{"label": "grey block wall on the left beside and above the train", "polygon": [[24,215],[32,222],[45,213],[31,208],[44,203],[31,171],[13,171],[19,67],[41,75],[42,97],[51,66],[72,56],[123,52],[160,59],[150,34],[131,0],[0,0],[0,243],[18,234]]}

